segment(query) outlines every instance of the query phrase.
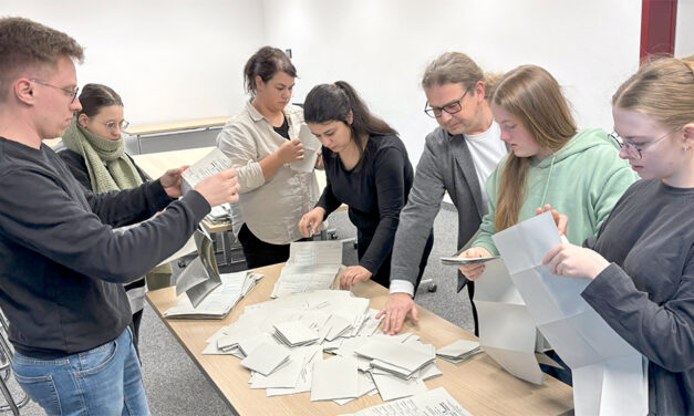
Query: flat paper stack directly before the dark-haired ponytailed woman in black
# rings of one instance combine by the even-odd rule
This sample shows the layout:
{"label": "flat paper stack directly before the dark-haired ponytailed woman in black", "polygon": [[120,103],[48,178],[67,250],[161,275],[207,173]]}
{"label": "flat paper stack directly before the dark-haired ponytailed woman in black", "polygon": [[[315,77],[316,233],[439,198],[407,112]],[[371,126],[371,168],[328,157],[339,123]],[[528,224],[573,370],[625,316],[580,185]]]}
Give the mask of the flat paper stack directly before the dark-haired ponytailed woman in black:
{"label": "flat paper stack directly before the dark-haired ponytailed woman in black", "polygon": [[342,264],[342,242],[292,242],[289,260],[275,283],[272,298],[331,289]]}

